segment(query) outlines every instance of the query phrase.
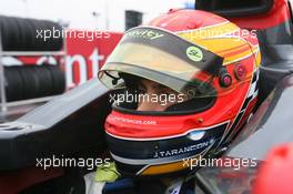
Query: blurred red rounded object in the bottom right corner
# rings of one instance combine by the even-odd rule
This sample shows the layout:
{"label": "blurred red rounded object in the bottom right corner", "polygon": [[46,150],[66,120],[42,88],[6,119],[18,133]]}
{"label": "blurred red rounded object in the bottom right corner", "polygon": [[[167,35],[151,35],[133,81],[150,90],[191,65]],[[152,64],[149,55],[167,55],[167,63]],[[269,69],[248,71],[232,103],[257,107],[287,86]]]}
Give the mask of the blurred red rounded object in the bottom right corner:
{"label": "blurred red rounded object in the bottom right corner", "polygon": [[253,194],[293,193],[293,143],[271,150],[256,174]]}

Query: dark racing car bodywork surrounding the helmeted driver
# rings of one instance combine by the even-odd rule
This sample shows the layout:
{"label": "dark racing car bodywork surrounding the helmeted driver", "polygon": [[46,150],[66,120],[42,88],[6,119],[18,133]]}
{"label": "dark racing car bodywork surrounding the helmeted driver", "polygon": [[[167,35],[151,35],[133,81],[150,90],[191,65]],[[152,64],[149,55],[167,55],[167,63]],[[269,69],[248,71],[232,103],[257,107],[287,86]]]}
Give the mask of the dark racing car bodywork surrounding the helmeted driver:
{"label": "dark racing car bodywork surrounding the helmeted driver", "polygon": [[[214,154],[221,159],[251,159],[261,164],[273,146],[293,141],[291,1],[196,0],[195,9],[257,31],[262,54],[259,109],[233,143]],[[89,183],[84,175],[94,169],[57,167],[46,159],[105,159],[103,124],[111,111],[110,94],[94,78],[12,122],[2,123],[1,193],[85,193]],[[200,169],[194,173],[196,193],[250,192],[257,166],[234,169],[234,165]]]}

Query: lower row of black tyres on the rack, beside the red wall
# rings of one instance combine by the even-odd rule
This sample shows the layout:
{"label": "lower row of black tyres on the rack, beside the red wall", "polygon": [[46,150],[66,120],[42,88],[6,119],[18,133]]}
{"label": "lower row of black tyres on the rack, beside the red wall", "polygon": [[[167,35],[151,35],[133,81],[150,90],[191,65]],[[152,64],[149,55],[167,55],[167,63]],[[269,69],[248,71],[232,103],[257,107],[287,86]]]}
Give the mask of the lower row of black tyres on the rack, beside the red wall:
{"label": "lower row of black tyres on the rack, beside the red wall", "polygon": [[8,101],[57,95],[65,89],[64,73],[55,65],[9,67],[4,72]]}

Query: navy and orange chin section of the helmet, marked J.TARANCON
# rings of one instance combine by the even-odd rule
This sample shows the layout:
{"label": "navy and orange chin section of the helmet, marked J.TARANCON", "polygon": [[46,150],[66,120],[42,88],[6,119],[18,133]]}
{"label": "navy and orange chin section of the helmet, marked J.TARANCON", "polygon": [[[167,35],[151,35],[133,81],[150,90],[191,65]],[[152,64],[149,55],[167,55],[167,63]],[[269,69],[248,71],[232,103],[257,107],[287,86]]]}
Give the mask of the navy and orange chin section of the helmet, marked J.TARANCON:
{"label": "navy and orange chin section of the helmet, marked J.TARANCON", "polygon": [[[120,173],[137,176],[162,175],[188,170],[191,166],[186,166],[186,159],[203,156],[218,147],[229,123],[190,129],[178,135],[146,139],[119,136],[109,129],[107,141]],[[153,127],[156,131],[162,129],[159,125]]]}

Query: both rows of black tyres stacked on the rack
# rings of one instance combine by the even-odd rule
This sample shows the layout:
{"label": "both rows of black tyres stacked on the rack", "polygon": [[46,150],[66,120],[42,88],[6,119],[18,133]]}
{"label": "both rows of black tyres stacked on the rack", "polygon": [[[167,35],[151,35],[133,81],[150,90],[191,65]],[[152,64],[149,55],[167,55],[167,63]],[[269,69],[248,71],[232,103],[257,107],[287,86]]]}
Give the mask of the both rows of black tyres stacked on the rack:
{"label": "both rows of black tyres stacked on the rack", "polygon": [[[44,40],[46,30],[48,38]],[[53,32],[55,33],[53,34]],[[49,33],[51,33],[50,38]],[[62,28],[51,21],[0,17],[0,35],[3,51],[28,53],[60,51],[64,41],[61,34]],[[7,101],[63,93],[65,90],[65,75],[59,67],[50,64],[4,67]]]}

